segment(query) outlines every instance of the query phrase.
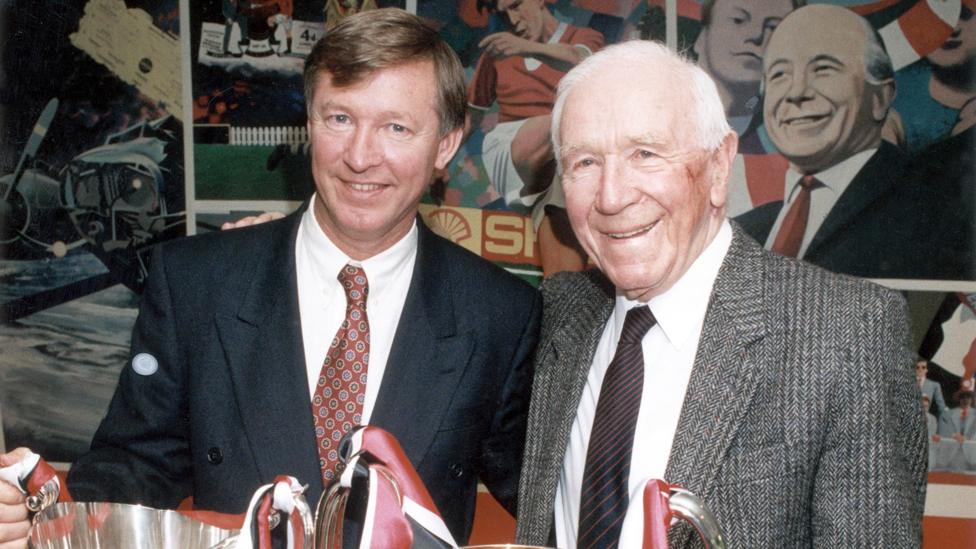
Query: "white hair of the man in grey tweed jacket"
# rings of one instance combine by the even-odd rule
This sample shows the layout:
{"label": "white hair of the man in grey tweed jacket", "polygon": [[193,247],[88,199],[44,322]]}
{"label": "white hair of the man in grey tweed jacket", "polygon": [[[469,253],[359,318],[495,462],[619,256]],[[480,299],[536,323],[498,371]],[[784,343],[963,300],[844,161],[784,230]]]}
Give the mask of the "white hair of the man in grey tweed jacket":
{"label": "white hair of the man in grey tweed jacket", "polygon": [[[552,145],[559,172],[561,142],[559,128],[562,124],[563,108],[577,84],[590,78],[594,72],[608,66],[620,66],[628,71],[642,71],[649,74],[667,74],[670,81],[677,84],[672,90],[675,95],[687,96],[692,109],[689,118],[693,124],[695,146],[712,151],[722,144],[725,136],[732,131],[725,119],[725,109],[718,95],[718,88],[708,74],[687,57],[669,50],[659,42],[631,40],[608,46],[587,57],[576,65],[559,82],[556,90],[556,103],[552,109]],[[606,82],[606,86],[627,86],[629,82]],[[593,108],[599,109],[601,98],[590,98]],[[651,98],[648,98],[650,101]]]}

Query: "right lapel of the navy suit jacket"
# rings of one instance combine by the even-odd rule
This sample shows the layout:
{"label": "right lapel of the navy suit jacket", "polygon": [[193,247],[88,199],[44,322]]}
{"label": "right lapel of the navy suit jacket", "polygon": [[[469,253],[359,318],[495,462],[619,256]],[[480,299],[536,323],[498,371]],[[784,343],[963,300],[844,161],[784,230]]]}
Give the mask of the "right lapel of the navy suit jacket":
{"label": "right lapel of the navy suit jacket", "polygon": [[457,331],[452,275],[442,255],[448,244],[419,218],[417,224],[413,278],[370,418],[397,438],[415,465],[433,442],[473,351],[471,335]]}

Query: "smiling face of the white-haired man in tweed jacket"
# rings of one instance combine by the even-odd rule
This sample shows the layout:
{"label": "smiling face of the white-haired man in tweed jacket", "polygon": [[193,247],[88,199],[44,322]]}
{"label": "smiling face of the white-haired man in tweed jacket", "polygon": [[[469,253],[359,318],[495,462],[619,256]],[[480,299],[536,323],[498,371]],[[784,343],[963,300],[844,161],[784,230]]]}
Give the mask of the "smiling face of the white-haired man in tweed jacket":
{"label": "smiling face of the white-haired man in tweed jacket", "polygon": [[666,74],[606,66],[573,88],[560,161],[573,230],[630,299],[678,280],[717,232],[735,154],[695,146],[694,105]]}

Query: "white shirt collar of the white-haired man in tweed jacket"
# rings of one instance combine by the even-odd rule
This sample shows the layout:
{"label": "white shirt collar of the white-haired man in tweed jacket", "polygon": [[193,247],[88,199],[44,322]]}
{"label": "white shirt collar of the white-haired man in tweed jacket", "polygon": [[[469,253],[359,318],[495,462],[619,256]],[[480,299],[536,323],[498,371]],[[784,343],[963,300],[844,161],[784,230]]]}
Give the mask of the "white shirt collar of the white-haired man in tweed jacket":
{"label": "white shirt collar of the white-haired man in tweed jacket", "polygon": [[[722,267],[722,261],[731,243],[732,226],[726,219],[722,221],[715,238],[674,286],[663,294],[654,296],[647,303],[664,336],[676,349],[680,350],[685,345],[696,341],[694,336],[700,331],[705,320],[712,286],[715,284],[718,271]],[[644,303],[627,299],[617,293],[614,309],[616,333],[622,331],[627,311],[639,305]]]}

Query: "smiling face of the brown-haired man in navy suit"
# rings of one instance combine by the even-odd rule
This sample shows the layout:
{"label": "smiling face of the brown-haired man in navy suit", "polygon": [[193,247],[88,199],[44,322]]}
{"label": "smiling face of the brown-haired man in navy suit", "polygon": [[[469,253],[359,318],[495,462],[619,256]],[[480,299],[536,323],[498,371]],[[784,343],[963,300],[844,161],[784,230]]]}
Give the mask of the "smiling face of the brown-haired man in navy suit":
{"label": "smiling face of the brown-haired man in navy suit", "polygon": [[461,130],[438,132],[433,64],[380,69],[336,87],[318,79],[309,109],[315,217],[353,259],[389,248],[413,225],[434,168],[454,155]]}

